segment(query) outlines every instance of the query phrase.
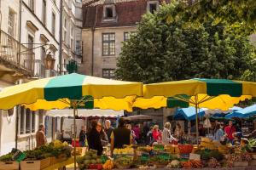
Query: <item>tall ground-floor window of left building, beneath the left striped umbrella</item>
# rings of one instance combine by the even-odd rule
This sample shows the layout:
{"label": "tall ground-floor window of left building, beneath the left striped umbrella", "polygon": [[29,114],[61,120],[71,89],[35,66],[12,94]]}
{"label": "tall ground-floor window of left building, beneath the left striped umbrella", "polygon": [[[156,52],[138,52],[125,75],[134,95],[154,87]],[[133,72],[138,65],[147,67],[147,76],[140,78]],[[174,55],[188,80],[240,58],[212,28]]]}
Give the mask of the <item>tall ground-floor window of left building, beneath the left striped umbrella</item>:
{"label": "tall ground-floor window of left building, beneath the left striped umbrella", "polygon": [[36,113],[20,106],[20,134],[36,132]]}

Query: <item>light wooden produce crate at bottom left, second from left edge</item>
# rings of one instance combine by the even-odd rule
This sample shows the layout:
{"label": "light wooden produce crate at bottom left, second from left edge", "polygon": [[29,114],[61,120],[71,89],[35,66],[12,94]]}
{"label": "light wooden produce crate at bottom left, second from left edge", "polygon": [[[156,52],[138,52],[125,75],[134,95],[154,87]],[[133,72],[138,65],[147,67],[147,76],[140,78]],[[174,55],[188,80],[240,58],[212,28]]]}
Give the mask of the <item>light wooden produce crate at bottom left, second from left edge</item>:
{"label": "light wooden produce crate at bottom left, second from left edge", "polygon": [[50,158],[45,158],[38,161],[21,161],[20,170],[40,170],[50,165]]}

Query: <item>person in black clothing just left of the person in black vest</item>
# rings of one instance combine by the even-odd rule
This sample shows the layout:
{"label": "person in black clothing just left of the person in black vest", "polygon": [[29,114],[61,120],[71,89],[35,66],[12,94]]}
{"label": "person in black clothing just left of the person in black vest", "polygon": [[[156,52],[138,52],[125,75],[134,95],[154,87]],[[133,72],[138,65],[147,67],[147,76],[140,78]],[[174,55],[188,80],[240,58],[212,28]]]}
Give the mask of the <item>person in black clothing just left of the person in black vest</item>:
{"label": "person in black clothing just left of the person in black vest", "polygon": [[102,140],[100,135],[102,130],[102,125],[96,121],[92,121],[90,123],[91,123],[91,130],[87,135],[89,149],[97,150],[97,155],[101,156],[103,151]]}

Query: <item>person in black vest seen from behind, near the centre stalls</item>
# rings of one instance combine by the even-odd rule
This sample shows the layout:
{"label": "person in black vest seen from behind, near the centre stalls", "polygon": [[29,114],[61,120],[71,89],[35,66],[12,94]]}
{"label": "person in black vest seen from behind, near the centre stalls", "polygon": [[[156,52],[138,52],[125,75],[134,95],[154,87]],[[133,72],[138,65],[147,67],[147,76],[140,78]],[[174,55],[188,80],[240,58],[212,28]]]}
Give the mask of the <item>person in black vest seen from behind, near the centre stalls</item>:
{"label": "person in black vest seen from behind, near the centre stalls", "polygon": [[119,127],[113,130],[111,133],[111,152],[115,148],[123,148],[125,144],[132,143],[131,130],[125,127],[125,119],[119,119]]}

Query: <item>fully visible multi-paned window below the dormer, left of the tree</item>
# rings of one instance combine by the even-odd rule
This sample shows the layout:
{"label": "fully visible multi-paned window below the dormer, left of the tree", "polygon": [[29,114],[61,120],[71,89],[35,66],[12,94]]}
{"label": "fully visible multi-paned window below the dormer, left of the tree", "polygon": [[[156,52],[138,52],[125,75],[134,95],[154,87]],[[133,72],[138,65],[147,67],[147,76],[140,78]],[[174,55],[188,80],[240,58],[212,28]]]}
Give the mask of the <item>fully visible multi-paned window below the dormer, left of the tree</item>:
{"label": "fully visible multi-paned window below the dormer, left of the tree", "polygon": [[102,34],[102,55],[115,54],[115,34],[103,33]]}

